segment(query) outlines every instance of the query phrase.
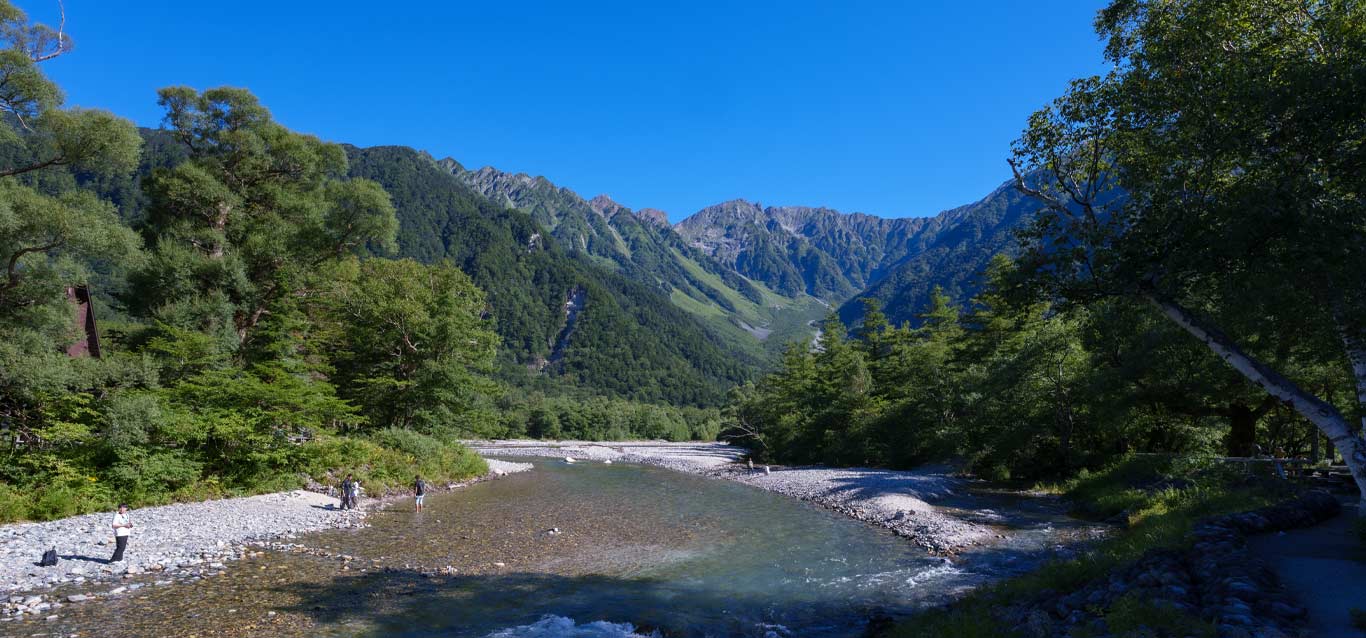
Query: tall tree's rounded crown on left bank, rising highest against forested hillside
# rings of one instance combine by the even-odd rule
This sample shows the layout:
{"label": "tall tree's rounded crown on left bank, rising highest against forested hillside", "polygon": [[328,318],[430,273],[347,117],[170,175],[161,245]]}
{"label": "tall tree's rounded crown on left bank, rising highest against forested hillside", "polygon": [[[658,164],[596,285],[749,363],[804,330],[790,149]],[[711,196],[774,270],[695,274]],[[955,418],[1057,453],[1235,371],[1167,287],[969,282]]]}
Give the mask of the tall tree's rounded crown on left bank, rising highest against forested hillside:
{"label": "tall tree's rounded crown on left bank, rising highest against forested hillside", "polygon": [[243,89],[158,94],[190,160],[146,182],[154,251],[134,281],[134,307],[240,346],[276,302],[307,291],[324,264],[393,246],[389,195],[372,180],[346,179],[340,146],[275,123]]}

